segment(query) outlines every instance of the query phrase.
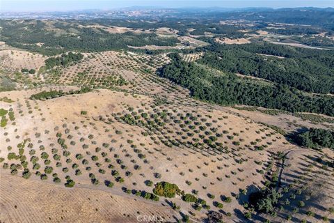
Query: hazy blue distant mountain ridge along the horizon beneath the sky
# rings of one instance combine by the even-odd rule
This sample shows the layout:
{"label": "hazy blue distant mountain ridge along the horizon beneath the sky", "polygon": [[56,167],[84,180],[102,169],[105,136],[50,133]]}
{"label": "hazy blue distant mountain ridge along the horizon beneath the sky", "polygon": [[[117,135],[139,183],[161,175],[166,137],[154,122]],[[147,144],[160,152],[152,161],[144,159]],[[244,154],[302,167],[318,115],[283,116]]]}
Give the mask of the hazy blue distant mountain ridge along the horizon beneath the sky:
{"label": "hazy blue distant mountain ridge along the horizon beneath the sky", "polygon": [[[159,13],[156,11],[159,10]],[[132,13],[136,11],[136,13]],[[326,27],[334,30],[334,8],[163,8],[159,6],[132,6],[115,10],[78,10],[47,13],[0,13],[1,19],[118,19],[143,17],[202,19],[210,17],[216,20],[248,20],[260,22],[280,22],[306,24]]]}

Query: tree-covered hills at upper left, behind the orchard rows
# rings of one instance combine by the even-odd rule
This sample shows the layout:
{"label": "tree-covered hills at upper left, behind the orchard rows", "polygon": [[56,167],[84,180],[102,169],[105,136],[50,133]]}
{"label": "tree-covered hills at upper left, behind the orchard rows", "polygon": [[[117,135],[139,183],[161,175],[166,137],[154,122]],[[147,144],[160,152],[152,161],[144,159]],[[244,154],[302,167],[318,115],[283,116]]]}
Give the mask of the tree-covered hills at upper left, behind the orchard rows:
{"label": "tree-covered hills at upper left, behind the orchard rows", "polygon": [[[42,21],[33,24],[0,20],[1,41],[22,49],[46,55],[68,51],[101,52],[111,49],[127,49],[128,46],[173,46],[177,38],[159,37],[155,33],[109,33],[103,29],[55,24],[53,29]],[[36,44],[42,43],[38,46]]]}

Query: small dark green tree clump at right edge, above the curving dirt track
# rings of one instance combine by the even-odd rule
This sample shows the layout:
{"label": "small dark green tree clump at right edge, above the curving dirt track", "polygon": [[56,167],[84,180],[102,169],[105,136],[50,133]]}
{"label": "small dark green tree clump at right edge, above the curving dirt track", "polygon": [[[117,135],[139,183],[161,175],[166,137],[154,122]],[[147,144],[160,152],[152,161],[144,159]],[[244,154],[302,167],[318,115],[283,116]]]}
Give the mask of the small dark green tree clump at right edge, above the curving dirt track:
{"label": "small dark green tree clump at right edge, above the curving dirt track", "polygon": [[306,132],[298,134],[296,143],[308,148],[328,147],[334,149],[334,131],[318,128],[310,128]]}

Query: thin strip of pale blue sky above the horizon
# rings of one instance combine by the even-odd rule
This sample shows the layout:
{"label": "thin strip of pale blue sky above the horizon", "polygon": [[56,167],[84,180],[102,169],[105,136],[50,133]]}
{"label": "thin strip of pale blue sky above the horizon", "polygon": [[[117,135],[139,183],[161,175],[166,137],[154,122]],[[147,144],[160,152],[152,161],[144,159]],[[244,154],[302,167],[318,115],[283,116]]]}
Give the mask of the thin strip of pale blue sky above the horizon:
{"label": "thin strip of pale blue sky above the horizon", "polygon": [[183,7],[334,7],[334,1],[305,1],[305,0],[0,0],[0,11],[67,11],[101,9],[109,10],[129,6],[159,6],[166,8]]}

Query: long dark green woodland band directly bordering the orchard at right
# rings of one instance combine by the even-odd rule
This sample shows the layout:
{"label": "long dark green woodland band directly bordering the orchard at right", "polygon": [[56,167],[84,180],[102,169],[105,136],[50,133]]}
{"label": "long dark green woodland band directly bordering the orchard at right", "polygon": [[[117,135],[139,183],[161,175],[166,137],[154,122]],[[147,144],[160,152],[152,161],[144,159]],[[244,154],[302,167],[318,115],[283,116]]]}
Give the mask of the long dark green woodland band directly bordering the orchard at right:
{"label": "long dark green woodland band directly bordering the orchard at right", "polygon": [[196,63],[187,63],[170,54],[172,63],[159,69],[159,75],[191,91],[193,97],[221,105],[253,105],[289,112],[315,112],[334,116],[334,98],[305,95],[284,84],[271,84],[237,75],[217,75]]}

